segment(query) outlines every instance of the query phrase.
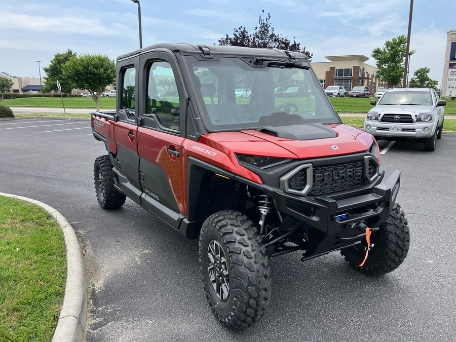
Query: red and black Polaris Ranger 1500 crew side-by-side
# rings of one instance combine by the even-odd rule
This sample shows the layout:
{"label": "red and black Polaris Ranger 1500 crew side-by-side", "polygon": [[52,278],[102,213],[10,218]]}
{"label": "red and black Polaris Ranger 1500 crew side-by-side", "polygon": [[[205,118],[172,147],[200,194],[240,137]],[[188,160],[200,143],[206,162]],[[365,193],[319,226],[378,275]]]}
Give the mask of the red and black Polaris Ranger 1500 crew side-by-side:
{"label": "red and black Polaris Ranger 1500 crew side-by-side", "polygon": [[375,139],[341,122],[305,55],[160,44],[117,67],[116,111],[92,113],[108,152],[95,160],[98,202],[129,197],[199,239],[220,322],[243,328],[263,314],[274,256],[340,250],[370,275],[404,261],[400,173],[384,177]]}

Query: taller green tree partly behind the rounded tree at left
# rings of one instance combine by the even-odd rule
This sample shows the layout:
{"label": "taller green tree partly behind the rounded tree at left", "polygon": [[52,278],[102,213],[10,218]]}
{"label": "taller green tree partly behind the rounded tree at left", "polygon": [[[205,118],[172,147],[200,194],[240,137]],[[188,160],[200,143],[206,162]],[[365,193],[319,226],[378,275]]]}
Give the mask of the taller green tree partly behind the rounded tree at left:
{"label": "taller green tree partly behind the rounded tree at left", "polygon": [[47,67],[43,70],[46,72],[46,85],[43,87],[47,91],[57,89],[57,81],[60,82],[62,93],[70,94],[74,85],[70,80],[67,80],[62,73],[63,64],[65,64],[71,57],[75,57],[76,53],[68,49],[64,53],[56,53]]}

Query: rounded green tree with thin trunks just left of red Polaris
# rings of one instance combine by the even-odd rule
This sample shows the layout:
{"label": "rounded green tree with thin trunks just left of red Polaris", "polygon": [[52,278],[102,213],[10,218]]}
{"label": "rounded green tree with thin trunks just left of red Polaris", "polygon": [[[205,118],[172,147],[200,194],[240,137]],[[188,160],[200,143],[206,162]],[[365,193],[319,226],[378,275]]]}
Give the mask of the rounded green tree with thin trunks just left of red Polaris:
{"label": "rounded green tree with thin trunks just left of red Polaris", "polygon": [[100,110],[100,95],[116,82],[116,63],[105,55],[87,54],[71,57],[62,68],[63,76],[75,87],[87,89]]}

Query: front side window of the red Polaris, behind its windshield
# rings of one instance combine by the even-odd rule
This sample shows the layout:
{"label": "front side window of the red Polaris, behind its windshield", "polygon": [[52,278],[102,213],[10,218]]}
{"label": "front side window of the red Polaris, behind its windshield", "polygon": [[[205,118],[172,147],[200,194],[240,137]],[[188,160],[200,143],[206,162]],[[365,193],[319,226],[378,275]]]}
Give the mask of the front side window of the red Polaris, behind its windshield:
{"label": "front side window of the red Polaris, behind its windshield", "polygon": [[163,127],[178,131],[179,110],[179,93],[171,65],[164,61],[151,63],[144,116],[155,115]]}

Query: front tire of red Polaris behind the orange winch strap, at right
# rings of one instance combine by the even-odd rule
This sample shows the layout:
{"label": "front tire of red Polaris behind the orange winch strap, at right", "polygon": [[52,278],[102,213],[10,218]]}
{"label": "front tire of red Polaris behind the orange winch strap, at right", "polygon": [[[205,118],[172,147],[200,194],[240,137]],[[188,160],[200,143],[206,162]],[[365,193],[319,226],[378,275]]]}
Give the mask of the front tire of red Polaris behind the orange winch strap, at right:
{"label": "front tire of red Polaris behind the orange winch strap, at right", "polygon": [[352,268],[367,275],[389,273],[404,261],[410,245],[410,232],[399,204],[394,205],[389,219],[380,226],[380,230],[372,232],[371,242],[374,245],[363,267],[359,265],[364,260],[366,245],[343,249],[340,254]]}

